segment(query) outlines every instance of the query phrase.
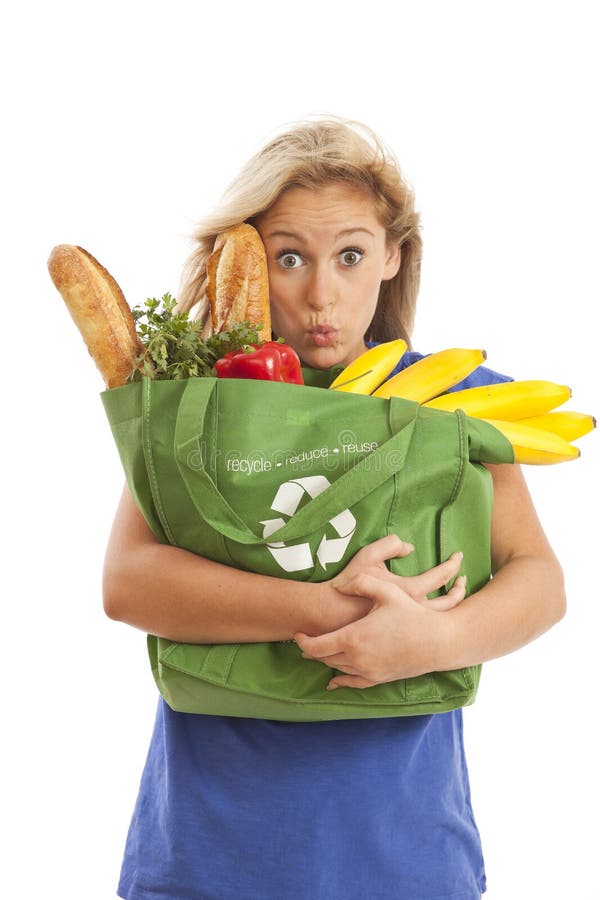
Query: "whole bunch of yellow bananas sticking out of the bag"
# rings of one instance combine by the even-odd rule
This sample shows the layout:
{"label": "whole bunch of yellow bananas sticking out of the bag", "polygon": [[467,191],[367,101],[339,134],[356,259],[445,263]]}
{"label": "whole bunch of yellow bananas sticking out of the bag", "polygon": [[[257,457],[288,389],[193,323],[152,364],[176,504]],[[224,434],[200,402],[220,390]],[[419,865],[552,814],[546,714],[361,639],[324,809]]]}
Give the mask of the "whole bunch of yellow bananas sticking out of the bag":
{"label": "whole bunch of yellow bananas sticking out of the bag", "polygon": [[402,340],[372,347],[338,375],[331,389],[403,397],[448,412],[462,409],[501,431],[511,442],[517,463],[575,459],[579,449],[571,441],[596,427],[593,416],[555,411],[569,399],[571,389],[552,381],[507,381],[446,393],[484,362],[484,350],[440,350],[386,381],[405,351]]}

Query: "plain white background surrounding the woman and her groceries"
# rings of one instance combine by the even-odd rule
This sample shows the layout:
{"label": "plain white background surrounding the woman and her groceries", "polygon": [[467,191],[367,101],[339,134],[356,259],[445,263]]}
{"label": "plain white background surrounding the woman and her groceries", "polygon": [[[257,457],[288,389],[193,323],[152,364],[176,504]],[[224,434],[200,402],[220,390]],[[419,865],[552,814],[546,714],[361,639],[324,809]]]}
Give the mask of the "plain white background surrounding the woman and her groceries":
{"label": "plain white background surrounding the woman and her groceries", "polygon": [[[3,896],[114,897],[156,702],[143,635],[102,613],[122,475],[50,249],[86,247],[131,304],[176,292],[194,221],[276,129],[361,119],[422,213],[415,346],[484,346],[598,414],[598,25],[577,0],[54,0],[5,18]],[[596,435],[581,447],[528,471],[568,616],[486,665],[466,712],[489,900],[600,897]]]}

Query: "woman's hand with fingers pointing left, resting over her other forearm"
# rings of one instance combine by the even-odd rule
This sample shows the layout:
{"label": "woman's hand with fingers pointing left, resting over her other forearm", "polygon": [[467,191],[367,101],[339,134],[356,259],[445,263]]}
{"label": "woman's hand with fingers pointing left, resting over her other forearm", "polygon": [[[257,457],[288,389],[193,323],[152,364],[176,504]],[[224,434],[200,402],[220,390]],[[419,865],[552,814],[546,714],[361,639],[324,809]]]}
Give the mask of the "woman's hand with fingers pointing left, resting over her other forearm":
{"label": "woman's hand with fingers pointing left, resting over her other forearm", "polygon": [[[338,669],[328,689],[366,688],[399,678],[435,671],[435,659],[447,639],[444,602],[423,602],[398,584],[358,574],[337,585],[344,594],[366,597],[372,609],[362,619],[337,631],[310,637],[294,637],[303,655]],[[461,585],[464,596],[464,584]],[[456,605],[458,591],[455,594]],[[444,621],[446,620],[446,621]],[[448,622],[449,624],[449,622]]]}

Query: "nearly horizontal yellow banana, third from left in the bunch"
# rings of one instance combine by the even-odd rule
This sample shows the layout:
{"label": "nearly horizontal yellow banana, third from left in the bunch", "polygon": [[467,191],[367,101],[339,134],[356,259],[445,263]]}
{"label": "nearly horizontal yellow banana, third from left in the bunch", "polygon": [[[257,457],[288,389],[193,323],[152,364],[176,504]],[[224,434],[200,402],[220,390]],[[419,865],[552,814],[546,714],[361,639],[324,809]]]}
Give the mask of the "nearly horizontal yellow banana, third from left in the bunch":
{"label": "nearly horizontal yellow banana, third from left in the bunch", "polygon": [[570,396],[570,388],[553,381],[506,381],[444,394],[425,406],[451,412],[462,409],[479,419],[514,421],[546,413]]}

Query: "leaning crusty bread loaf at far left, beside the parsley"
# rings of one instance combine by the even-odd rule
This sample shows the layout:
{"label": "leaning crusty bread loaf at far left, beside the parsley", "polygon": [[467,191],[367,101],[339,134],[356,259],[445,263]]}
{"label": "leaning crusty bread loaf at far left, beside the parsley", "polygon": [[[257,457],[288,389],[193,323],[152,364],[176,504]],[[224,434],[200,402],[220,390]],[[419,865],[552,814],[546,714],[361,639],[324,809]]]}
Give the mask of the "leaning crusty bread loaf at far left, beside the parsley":
{"label": "leaning crusty bread loaf at far left, beside the parsley", "polygon": [[59,244],[48,270],[107,388],[126,384],[144,353],[121,288],[97,259],[72,244]]}

